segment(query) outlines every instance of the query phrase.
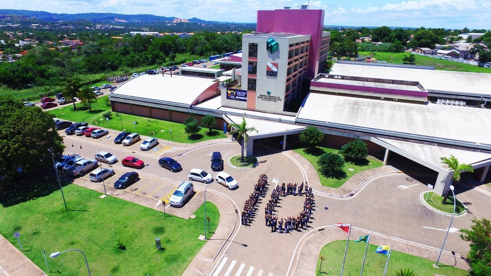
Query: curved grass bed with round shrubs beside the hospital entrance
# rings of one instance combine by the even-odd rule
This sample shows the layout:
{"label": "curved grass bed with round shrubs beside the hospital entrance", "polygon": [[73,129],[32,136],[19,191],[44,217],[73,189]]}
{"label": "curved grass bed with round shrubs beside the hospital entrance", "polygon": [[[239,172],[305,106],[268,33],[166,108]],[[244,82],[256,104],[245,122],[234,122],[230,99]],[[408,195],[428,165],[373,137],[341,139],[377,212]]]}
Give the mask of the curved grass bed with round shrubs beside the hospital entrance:
{"label": "curved grass bed with round shrubs beside the hospital entrance", "polygon": [[[303,147],[303,148],[296,148],[294,149],[296,152],[298,152],[300,155],[305,157],[314,167],[315,170],[317,170],[317,173],[319,174],[320,177],[320,183],[322,186],[326,187],[331,187],[331,188],[339,188],[341,185],[346,182],[351,176],[355,175],[356,173],[360,171],[364,171],[367,169],[371,168],[376,168],[382,166],[382,161],[373,158],[371,156],[368,156],[368,159],[359,164],[355,164],[353,162],[345,162],[344,163],[344,175],[340,175],[338,178],[331,178],[331,177],[326,177],[324,174],[322,174],[320,166],[317,164],[317,161],[319,160],[320,155],[325,152],[333,152],[333,153],[339,153],[339,150],[333,149],[333,148],[328,148],[328,147],[316,147],[316,149],[312,152],[309,150],[308,147]],[[350,171],[348,169],[353,169],[353,171]]]}

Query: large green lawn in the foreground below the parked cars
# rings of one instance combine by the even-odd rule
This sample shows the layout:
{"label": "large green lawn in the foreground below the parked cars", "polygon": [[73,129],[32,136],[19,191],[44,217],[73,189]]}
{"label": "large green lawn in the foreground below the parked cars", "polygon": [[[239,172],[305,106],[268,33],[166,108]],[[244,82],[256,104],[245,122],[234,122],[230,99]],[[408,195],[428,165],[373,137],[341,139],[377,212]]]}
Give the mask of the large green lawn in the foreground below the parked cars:
{"label": "large green lawn in the foreground below the parked cars", "polygon": [[[164,217],[162,212],[115,197],[100,199],[101,193],[70,184],[63,188],[68,206],[65,211],[60,191],[49,187],[57,186],[56,179],[39,181],[49,183],[51,192],[33,200],[11,202],[7,198],[10,194],[1,191],[0,233],[18,248],[12,234],[19,232],[23,254],[46,273],[43,249],[47,255],[79,249],[87,256],[92,275],[182,275],[205,244],[198,239],[204,234],[203,205],[195,219]],[[210,202],[207,217],[213,233],[220,214]],[[156,250],[155,238],[161,239],[164,250]],[[118,240],[125,250],[118,248]],[[51,274],[87,275],[78,252],[48,257],[47,261]]]}

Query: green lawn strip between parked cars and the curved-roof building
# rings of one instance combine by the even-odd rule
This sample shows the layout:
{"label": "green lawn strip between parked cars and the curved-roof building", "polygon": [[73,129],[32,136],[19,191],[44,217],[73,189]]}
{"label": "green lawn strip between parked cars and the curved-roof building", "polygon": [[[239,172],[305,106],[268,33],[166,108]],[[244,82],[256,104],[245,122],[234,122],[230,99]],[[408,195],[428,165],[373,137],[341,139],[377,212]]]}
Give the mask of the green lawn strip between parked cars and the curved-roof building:
{"label": "green lawn strip between parked cars and the curved-roof building", "polygon": [[[89,125],[97,125],[98,127],[112,129],[116,132],[121,131],[122,121],[123,129],[126,131],[137,132],[140,135],[153,136],[160,139],[182,143],[195,143],[204,140],[227,137],[223,134],[223,132],[219,131],[212,131],[212,134],[209,135],[208,129],[202,128],[198,135],[190,138],[189,135],[184,133],[183,124],[128,114],[121,114],[121,117],[118,117],[117,112],[112,112],[113,116],[109,121],[106,121],[103,119],[102,114],[111,110],[111,107],[108,106],[105,101],[107,97],[108,96],[99,97],[97,102],[93,102],[91,104],[92,112],[89,112],[88,109],[83,107],[80,103],[77,103],[76,111],[73,111],[73,104],[67,104],[62,108],[51,110],[49,113],[55,118],[69,120],[72,122],[87,122]],[[138,124],[134,125],[133,122],[137,122]],[[162,130],[164,131],[162,132]],[[169,130],[172,130],[172,139]],[[154,133],[153,135],[151,134],[152,132]]]}

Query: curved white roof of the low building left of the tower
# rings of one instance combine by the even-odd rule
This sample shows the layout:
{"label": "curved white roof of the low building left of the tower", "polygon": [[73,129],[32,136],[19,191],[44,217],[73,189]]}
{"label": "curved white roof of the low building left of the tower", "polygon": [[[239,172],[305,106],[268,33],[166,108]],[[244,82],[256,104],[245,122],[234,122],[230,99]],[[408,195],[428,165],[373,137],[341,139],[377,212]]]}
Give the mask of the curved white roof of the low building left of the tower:
{"label": "curved white roof of the low building left of the tower", "polygon": [[111,95],[191,105],[216,79],[180,75],[143,75],[123,83]]}

